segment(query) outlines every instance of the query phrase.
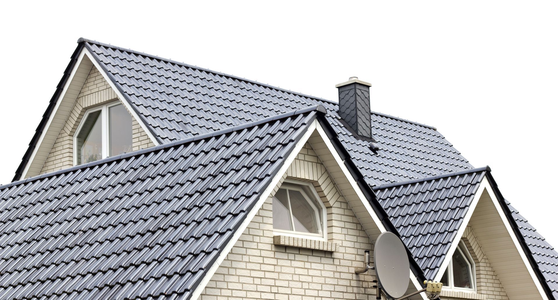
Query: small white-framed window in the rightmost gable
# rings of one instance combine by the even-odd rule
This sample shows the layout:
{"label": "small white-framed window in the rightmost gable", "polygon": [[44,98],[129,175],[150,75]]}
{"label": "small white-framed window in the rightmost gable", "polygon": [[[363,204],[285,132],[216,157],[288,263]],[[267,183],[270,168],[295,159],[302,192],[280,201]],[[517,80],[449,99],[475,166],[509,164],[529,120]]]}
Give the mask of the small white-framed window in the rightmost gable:
{"label": "small white-framed window in the rightmost gable", "polygon": [[440,282],[453,289],[475,289],[475,263],[463,241],[459,242]]}

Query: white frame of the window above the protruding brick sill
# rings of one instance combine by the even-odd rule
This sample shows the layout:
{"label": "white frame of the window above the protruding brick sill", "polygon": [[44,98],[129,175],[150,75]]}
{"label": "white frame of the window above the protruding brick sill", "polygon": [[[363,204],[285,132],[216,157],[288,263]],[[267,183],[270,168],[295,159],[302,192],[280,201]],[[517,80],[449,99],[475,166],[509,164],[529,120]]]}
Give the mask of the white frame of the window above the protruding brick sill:
{"label": "white frame of the window above the protruding brick sill", "polygon": [[[327,218],[327,212],[326,212],[324,203],[321,201],[321,198],[318,195],[318,192],[316,192],[316,189],[314,188],[314,185],[312,185],[311,183],[307,183],[305,181],[290,180],[290,179],[285,179],[283,181],[283,183],[305,185],[309,188],[312,195],[307,195],[307,193],[304,189],[298,188],[297,186],[288,186],[288,187],[280,186],[280,189],[282,188],[282,189],[291,189],[291,190],[300,191],[300,193],[302,194],[302,196],[304,196],[306,201],[308,201],[308,203],[310,203],[312,208],[315,209],[316,220],[318,222],[321,222],[321,224],[318,224],[318,228],[320,229],[320,233],[319,234],[304,233],[304,232],[297,232],[297,231],[294,231],[294,230],[285,230],[285,229],[275,229],[275,228],[273,228],[273,235],[286,235],[287,237],[314,239],[314,240],[321,240],[323,242],[327,242],[327,237],[328,237],[328,224],[327,224],[327,219],[326,219]],[[314,196],[314,198],[316,200],[312,201],[312,199],[309,198],[310,196]],[[288,197],[288,193],[287,193],[287,197]],[[289,203],[289,206],[290,206],[291,202],[288,201],[288,203]],[[316,203],[318,204],[318,206],[316,206]],[[291,212],[290,207],[288,208],[288,210],[289,210],[289,212]],[[321,218],[320,218],[320,216],[321,216]],[[291,214],[291,222],[293,222],[292,214]]]}

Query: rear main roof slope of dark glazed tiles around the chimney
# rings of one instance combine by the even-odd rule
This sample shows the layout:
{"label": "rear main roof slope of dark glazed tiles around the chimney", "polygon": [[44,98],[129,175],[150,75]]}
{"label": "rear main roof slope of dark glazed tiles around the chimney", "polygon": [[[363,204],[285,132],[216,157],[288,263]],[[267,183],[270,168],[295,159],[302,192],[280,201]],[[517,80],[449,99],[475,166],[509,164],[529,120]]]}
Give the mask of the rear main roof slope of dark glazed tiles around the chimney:
{"label": "rear main roof slope of dark glazed tiles around the chimney", "polygon": [[[370,141],[357,139],[344,126],[336,102],[83,38],[79,42],[161,144],[323,105],[369,185],[473,168],[431,126],[374,112],[372,130],[381,148],[374,153]],[[24,157],[23,166],[28,159]],[[20,175],[22,170],[20,166]]]}

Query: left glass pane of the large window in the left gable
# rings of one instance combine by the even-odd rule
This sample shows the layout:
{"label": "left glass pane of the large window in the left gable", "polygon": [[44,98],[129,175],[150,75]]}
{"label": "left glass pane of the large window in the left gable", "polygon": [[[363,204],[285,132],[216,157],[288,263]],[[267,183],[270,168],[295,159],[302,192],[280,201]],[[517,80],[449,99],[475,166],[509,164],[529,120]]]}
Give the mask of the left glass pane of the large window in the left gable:
{"label": "left glass pane of the large window in the left gable", "polygon": [[90,113],[78,134],[78,165],[99,160],[102,156],[101,111]]}

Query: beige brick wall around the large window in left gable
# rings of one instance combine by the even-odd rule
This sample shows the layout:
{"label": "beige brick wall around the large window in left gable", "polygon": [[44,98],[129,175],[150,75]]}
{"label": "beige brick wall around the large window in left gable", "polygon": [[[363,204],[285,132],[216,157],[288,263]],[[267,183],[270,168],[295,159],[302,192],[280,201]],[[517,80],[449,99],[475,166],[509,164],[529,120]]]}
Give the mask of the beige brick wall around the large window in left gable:
{"label": "beige brick wall around the large window in left gable", "polygon": [[[50,154],[47,156],[40,174],[73,166],[73,136],[85,110],[116,100],[118,100],[118,97],[114,90],[104,80],[97,68],[93,66],[66,120],[66,124],[60,130]],[[132,149],[135,151],[151,146],[154,146],[153,142],[138,121],[132,117]]]}

